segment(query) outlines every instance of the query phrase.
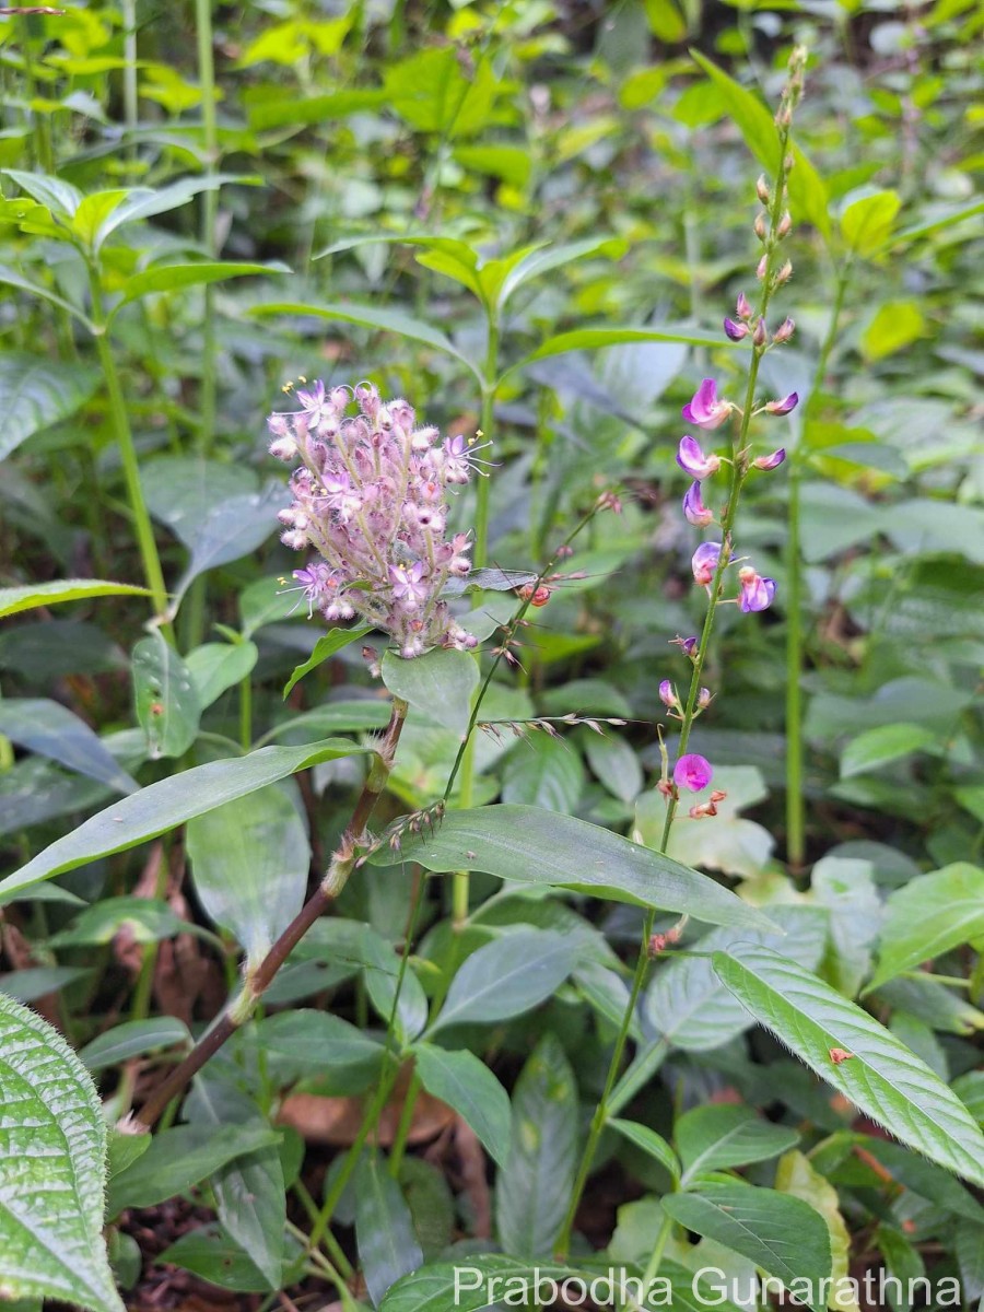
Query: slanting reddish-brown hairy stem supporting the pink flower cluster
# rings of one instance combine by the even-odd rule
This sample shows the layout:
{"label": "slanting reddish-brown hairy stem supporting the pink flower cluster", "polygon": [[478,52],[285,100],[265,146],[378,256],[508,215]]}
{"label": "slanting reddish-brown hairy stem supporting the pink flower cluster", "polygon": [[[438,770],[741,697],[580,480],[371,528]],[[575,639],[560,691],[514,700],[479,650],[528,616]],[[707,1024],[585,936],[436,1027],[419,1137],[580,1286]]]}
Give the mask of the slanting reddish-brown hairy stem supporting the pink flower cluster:
{"label": "slanting reddish-brown hairy stem supporting the pink flower cluster", "polygon": [[172,1098],[185,1088],[189,1080],[195,1076],[219,1048],[232,1038],[256,1009],[256,1004],[270,987],[286,962],[287,956],[297,947],[314,922],[328,909],[331,903],[345,887],[349,875],[356,865],[357,849],[362,841],[366,824],[369,823],[375,804],[383,794],[390,771],[392,770],[396,745],[400,741],[404,720],[407,716],[407,703],[399,697],[394,698],[390,723],[386,727],[379,744],[378,754],[369,778],[362,786],[352,819],[345,827],[345,832],[338,840],[338,846],[329,862],[328,871],[318,886],[316,891],[304,903],[294,920],[287,925],[281,937],[255,968],[249,970],[241,992],[231,1000],[216,1023],[205,1034],[188,1056],[150,1096],[140,1109],[139,1124],[144,1130],[155,1123]]}

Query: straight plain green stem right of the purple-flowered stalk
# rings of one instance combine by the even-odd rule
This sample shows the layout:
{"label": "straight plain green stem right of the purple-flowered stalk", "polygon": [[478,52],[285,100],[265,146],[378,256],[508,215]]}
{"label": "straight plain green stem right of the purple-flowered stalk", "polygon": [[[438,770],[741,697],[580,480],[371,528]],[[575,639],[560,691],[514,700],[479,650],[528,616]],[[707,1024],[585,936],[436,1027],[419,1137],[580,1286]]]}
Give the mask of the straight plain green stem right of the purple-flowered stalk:
{"label": "straight plain green stem right of the purple-flowered stalk", "polygon": [[[830,321],[803,415],[803,428],[817,407],[817,396],[827,377],[827,365],[837,341],[849,269],[837,277]],[[806,798],[803,795],[803,548],[800,527],[800,491],[803,461],[790,464],[789,526],[786,535],[786,861],[800,867],[806,859]]]}

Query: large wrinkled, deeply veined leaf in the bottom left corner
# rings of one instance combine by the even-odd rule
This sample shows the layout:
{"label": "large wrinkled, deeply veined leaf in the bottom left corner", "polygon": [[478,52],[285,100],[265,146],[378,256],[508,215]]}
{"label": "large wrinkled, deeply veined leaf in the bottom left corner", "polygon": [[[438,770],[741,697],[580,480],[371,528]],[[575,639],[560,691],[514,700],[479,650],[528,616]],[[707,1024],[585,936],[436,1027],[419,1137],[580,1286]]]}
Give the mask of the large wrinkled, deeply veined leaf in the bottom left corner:
{"label": "large wrinkled, deeply veined leaf in the bottom left corner", "polygon": [[39,1015],[0,993],[0,1287],[123,1312],[102,1240],[106,1128],[92,1080]]}

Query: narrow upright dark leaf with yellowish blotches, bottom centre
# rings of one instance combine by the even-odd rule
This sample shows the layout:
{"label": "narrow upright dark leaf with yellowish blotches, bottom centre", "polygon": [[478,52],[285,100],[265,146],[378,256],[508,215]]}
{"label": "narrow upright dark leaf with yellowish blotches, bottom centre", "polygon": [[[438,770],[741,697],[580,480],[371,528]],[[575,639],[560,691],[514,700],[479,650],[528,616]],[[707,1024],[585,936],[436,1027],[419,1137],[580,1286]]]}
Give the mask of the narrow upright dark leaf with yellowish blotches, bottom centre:
{"label": "narrow upright dark leaf with yellowish blotches, bottom centre", "polygon": [[512,1101],[512,1147],[496,1179],[496,1229],[506,1252],[547,1256],[579,1160],[577,1084],[554,1034],[534,1048]]}

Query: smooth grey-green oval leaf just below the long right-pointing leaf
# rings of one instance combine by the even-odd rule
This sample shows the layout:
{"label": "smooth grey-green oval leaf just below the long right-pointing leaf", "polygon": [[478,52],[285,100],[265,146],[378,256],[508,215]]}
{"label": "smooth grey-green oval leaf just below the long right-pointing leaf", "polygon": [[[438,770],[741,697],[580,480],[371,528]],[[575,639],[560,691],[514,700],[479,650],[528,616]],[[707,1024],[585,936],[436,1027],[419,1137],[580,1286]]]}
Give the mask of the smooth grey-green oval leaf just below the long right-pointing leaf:
{"label": "smooth grey-green oval leaf just below the long right-pointing leaf", "polygon": [[529,1012],[560,988],[575,964],[569,941],[554,930],[517,929],[496,938],[466,958],[429,1033]]}

